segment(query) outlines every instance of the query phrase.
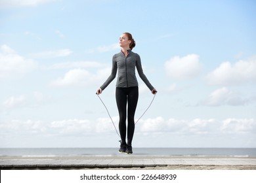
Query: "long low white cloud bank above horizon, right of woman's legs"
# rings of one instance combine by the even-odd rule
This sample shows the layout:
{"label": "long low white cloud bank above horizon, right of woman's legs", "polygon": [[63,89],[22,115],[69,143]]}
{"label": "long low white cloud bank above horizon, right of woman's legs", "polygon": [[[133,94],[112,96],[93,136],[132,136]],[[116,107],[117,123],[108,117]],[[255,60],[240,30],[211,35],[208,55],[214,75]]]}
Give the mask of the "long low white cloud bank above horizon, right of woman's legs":
{"label": "long low white cloud bank above horizon, right of woman's legs", "polygon": [[[137,132],[148,133],[179,133],[179,134],[223,134],[223,133],[256,133],[255,119],[228,118],[223,121],[215,119],[165,120],[162,117],[140,120]],[[139,128],[139,129],[138,129]]]}

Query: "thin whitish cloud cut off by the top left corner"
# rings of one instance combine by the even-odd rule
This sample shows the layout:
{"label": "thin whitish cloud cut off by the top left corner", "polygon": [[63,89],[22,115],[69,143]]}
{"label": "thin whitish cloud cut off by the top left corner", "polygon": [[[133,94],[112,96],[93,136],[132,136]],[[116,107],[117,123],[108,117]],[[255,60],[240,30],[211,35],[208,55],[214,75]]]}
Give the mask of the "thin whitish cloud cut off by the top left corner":
{"label": "thin whitish cloud cut off by the top left corner", "polygon": [[35,7],[56,0],[1,0],[1,7]]}

